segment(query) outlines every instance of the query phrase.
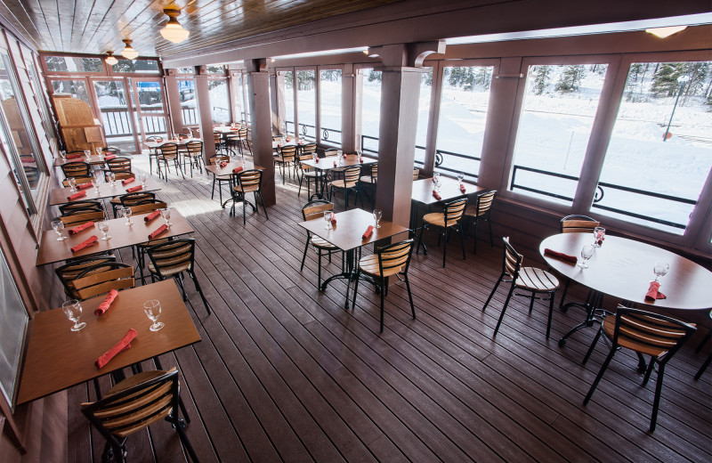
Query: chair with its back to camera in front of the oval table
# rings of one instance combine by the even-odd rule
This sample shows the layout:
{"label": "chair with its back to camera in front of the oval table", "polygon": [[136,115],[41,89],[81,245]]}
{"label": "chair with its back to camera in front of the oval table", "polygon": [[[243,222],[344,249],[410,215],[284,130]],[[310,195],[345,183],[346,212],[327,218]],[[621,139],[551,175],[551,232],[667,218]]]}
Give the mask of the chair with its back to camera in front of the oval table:
{"label": "chair with its back to camera in front of the oval table", "polygon": [[[601,324],[601,329],[598,330],[594,337],[594,342],[584,357],[584,363],[594,351],[595,344],[603,333],[611,341],[611,350],[608,356],[601,365],[601,370],[598,371],[594,379],[594,383],[586,394],[584,405],[591,400],[596,386],[603,378],[603,373],[608,368],[608,365],[613,359],[613,355],[621,347],[630,349],[638,354],[638,358],[643,361],[643,354],[650,355],[651,361],[648,368],[645,370],[643,377],[643,386],[648,384],[651,378],[652,370],[655,364],[658,364],[658,380],[655,385],[655,398],[652,401],[652,415],[650,431],[655,431],[655,425],[658,420],[658,408],[660,402],[660,390],[662,389],[662,378],[665,373],[665,365],[680,348],[684,342],[692,336],[697,328],[692,325],[679,321],[658,313],[645,312],[638,309],[632,309],[619,305],[616,311],[615,318],[613,316],[606,317]],[[644,362],[643,365],[644,366]]]}

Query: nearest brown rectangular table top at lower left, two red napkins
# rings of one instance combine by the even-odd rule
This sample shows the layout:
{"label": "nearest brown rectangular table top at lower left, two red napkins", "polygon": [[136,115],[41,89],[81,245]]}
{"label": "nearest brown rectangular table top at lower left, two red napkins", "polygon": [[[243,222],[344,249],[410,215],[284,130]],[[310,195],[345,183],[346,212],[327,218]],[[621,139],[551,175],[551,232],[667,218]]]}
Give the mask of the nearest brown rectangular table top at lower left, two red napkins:
{"label": "nearest brown rectangular table top at lower left, two red napkins", "polygon": [[[143,313],[143,303],[152,298],[160,301],[158,321],[165,323],[156,332],[150,331],[151,321]],[[173,279],[119,291],[109,311],[96,316],[94,309],[103,299],[99,296],[82,302],[79,321],[85,321],[86,326],[79,331],[70,330],[72,323],[61,307],[35,315],[30,322],[18,403],[34,401],[200,340]],[[98,369],[94,361],[132,328],[137,335],[131,348]]]}

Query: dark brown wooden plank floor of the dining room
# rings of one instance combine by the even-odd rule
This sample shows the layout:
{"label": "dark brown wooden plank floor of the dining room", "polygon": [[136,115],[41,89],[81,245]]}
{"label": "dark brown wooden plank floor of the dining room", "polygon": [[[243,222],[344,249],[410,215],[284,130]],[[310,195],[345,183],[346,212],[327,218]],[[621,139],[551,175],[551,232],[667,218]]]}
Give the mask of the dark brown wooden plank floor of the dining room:
{"label": "dark brown wooden plank floor of the dining room", "polygon": [[[147,167],[145,157],[134,166]],[[584,366],[594,329],[557,345],[581,311],[555,308],[546,340],[546,306],[528,313],[515,297],[492,338],[506,296],[502,288],[482,312],[501,271],[497,241],[482,241],[475,256],[467,240],[463,260],[451,240],[442,269],[441,249],[426,238],[430,253],[414,255],[409,272],[417,319],[394,285],[379,334],[372,288],[362,285],[356,307],[344,310],[344,282],[317,290],[312,250],[300,272],[305,234],[296,223],[306,196],[280,180],[269,220],[248,212],[247,226],[241,210],[231,217],[210,199],[208,175],[171,175],[159,192],[195,229],[198,280],[213,309],[207,316],[189,281],[202,341],[161,358],[182,372],[187,433],[201,461],[712,460],[712,369],[692,379],[707,355],[693,353],[701,333],[667,366],[650,434],[657,375],[640,386],[630,353],[616,355],[583,406],[608,348],[601,341]],[[121,256],[130,262],[130,252]],[[571,294],[584,296],[580,287]],[[108,378],[102,383],[109,388]],[[69,461],[101,461],[104,440],[78,408],[93,398],[88,385],[69,390]],[[165,422],[132,435],[127,448],[134,462],[186,459]]]}

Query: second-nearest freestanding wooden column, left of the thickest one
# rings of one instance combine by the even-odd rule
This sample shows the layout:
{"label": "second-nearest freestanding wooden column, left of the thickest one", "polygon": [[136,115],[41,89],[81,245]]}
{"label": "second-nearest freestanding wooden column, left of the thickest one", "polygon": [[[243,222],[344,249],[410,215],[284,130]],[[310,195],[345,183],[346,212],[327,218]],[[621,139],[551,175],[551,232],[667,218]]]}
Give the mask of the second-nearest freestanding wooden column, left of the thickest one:
{"label": "second-nearest freestanding wooden column, left of the thickest one", "polygon": [[249,85],[250,129],[255,164],[264,168],[262,195],[265,206],[277,203],[274,191],[274,158],[272,156],[270,74],[265,60],[246,60]]}

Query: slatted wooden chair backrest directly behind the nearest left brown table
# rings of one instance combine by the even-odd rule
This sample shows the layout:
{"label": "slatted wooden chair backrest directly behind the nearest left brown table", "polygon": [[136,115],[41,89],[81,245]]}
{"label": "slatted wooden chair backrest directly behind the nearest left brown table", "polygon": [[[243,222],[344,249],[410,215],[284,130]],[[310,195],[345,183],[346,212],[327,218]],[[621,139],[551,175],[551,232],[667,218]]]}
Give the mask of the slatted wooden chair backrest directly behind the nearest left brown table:
{"label": "slatted wooden chair backrest directly behind the nearest left brown table", "polygon": [[80,299],[99,296],[111,289],[134,288],[134,266],[115,261],[93,264],[71,284]]}

